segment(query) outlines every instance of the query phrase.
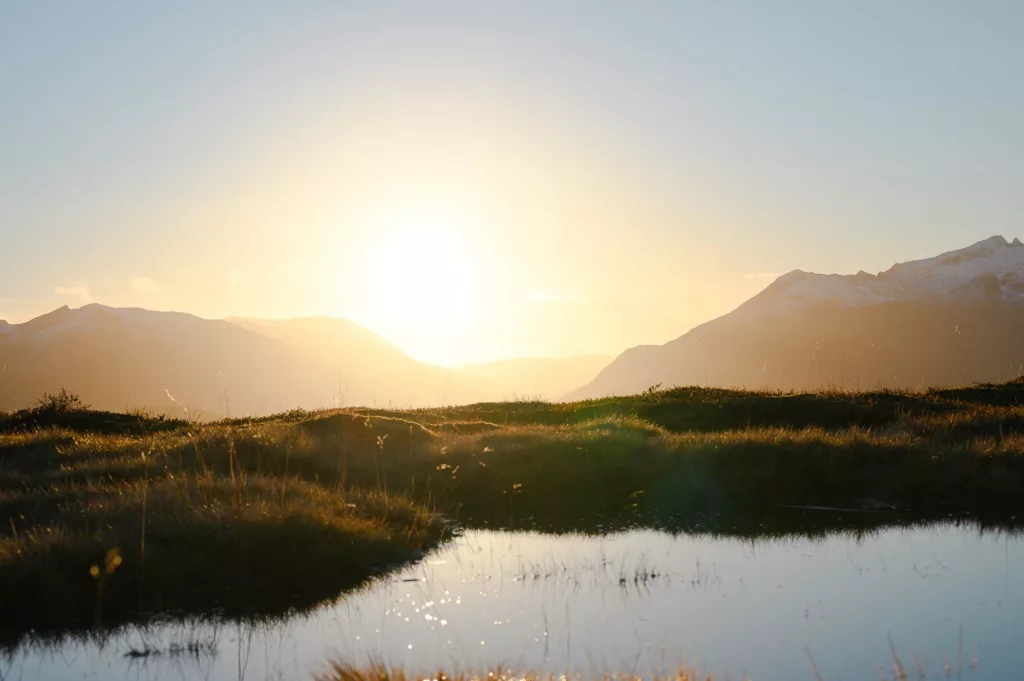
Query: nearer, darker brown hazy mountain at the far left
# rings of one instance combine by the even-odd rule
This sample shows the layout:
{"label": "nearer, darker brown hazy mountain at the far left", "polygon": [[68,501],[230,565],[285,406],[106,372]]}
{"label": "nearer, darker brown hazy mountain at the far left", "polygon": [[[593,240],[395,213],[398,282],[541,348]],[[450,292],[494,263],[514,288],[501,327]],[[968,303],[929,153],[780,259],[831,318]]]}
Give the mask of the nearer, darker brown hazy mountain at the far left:
{"label": "nearer, darker brown hazy mountain at the far left", "polygon": [[222,321],[97,304],[8,325],[0,364],[4,409],[67,388],[99,409],[222,416],[226,397],[236,415],[257,414],[311,388],[289,380],[310,369],[280,342]]}

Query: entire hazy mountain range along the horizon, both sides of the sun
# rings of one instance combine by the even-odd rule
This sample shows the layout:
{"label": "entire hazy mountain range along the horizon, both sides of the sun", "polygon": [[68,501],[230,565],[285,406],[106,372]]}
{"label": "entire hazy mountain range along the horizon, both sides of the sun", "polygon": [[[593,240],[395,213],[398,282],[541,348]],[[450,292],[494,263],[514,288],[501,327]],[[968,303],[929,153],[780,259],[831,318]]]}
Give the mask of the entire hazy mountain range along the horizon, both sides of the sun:
{"label": "entire hazy mountain range along the horizon, both sides of the sun", "polygon": [[[197,418],[630,394],[662,384],[817,389],[957,385],[1024,373],[1024,244],[993,237],[868,274],[779,276],[665,345],[459,370],[346,320],[204,320],[61,307],[0,321],[0,409],[44,392]],[[583,386],[583,387],[580,387]]]}

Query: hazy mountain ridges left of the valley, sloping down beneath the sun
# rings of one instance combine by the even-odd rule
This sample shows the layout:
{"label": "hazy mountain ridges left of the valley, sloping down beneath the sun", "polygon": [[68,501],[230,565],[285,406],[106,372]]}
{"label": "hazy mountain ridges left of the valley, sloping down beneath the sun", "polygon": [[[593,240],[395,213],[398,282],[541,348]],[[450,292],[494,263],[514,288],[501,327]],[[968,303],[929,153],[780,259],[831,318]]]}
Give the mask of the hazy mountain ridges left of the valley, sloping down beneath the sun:
{"label": "hazy mountain ridges left of the valley, sloping down beneath the sun", "polygon": [[97,409],[204,418],[487,396],[344,320],[227,322],[91,304],[0,325],[0,409],[61,388]]}

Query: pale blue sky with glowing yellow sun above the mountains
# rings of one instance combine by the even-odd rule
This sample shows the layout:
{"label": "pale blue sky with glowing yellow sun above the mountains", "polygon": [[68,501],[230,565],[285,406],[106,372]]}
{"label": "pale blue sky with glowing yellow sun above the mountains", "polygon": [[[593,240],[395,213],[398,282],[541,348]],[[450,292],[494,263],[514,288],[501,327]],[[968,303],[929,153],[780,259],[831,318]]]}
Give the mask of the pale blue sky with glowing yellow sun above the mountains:
{"label": "pale blue sky with glowing yellow sun above the mountains", "polygon": [[0,318],[664,343],[801,268],[1024,238],[1024,3],[4,3]]}

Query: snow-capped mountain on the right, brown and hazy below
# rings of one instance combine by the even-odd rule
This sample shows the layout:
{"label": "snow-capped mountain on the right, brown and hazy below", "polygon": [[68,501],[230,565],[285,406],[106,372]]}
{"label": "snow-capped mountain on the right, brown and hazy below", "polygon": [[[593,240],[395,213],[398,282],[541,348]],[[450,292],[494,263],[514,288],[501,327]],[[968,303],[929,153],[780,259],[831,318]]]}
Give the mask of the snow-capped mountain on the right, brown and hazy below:
{"label": "snow-capped mountain on the right, brown and hazy below", "polygon": [[570,397],[997,381],[1024,371],[1022,341],[1024,244],[992,237],[878,274],[783,274],[676,340],[627,350]]}

